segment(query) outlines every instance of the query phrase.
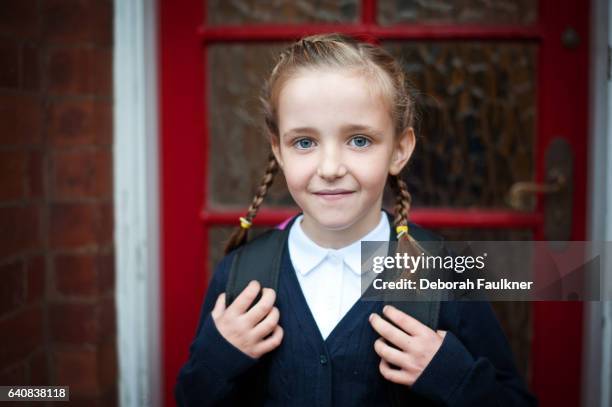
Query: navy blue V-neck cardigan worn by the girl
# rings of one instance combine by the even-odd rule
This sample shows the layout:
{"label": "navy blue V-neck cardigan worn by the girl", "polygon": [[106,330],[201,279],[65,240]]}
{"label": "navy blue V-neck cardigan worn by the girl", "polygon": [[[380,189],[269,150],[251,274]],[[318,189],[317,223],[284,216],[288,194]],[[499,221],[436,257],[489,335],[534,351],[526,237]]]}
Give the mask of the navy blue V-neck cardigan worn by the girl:
{"label": "navy blue V-neck cardigan worn by the girl", "polygon": [[[233,252],[234,253],[234,252]],[[285,244],[276,306],[284,337],[253,359],[230,344],[210,314],[225,291],[233,253],[215,269],[189,360],[175,386],[179,406],[389,406],[388,386],[368,322],[382,302],[357,301],[323,340]],[[442,302],[442,346],[413,386],[406,406],[533,406],[512,352],[488,302]]]}

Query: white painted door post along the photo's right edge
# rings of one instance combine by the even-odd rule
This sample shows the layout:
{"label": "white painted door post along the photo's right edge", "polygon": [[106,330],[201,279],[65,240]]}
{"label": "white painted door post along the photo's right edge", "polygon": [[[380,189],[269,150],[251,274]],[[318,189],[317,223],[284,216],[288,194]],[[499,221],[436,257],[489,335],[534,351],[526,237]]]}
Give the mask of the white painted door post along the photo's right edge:
{"label": "white painted door post along the photo's right edge", "polygon": [[[610,0],[591,1],[590,43],[590,168],[588,239],[612,241],[612,44]],[[602,259],[602,298],[612,298],[612,253]],[[584,306],[582,405],[612,407],[612,302]]]}

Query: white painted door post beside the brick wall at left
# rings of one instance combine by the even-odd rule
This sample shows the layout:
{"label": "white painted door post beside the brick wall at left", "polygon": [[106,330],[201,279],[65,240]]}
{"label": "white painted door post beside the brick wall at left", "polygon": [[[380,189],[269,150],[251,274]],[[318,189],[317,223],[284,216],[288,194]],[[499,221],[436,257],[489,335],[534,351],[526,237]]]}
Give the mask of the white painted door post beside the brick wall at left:
{"label": "white painted door post beside the brick wall at left", "polygon": [[113,180],[119,402],[160,406],[157,4],[114,4]]}

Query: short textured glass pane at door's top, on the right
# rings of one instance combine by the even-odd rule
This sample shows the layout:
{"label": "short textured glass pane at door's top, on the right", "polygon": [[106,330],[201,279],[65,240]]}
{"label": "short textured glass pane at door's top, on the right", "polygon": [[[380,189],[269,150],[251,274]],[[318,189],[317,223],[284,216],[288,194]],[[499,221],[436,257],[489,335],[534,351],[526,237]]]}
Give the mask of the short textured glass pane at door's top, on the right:
{"label": "short textured glass pane at door's top, on the right", "polygon": [[407,23],[534,24],[536,0],[379,0],[381,25]]}

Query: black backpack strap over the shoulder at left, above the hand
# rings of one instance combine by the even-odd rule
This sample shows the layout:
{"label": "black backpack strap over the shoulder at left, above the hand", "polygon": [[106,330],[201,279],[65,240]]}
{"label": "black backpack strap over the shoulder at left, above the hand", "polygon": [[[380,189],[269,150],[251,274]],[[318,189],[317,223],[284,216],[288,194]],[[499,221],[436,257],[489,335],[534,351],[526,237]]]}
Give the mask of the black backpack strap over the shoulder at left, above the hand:
{"label": "black backpack strap over the shoulder at left, above the hand", "polygon": [[[270,229],[237,249],[225,287],[225,303],[229,306],[252,280],[262,287],[278,288],[281,257],[295,217],[284,229]],[[259,301],[261,292],[253,304]]]}

